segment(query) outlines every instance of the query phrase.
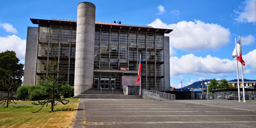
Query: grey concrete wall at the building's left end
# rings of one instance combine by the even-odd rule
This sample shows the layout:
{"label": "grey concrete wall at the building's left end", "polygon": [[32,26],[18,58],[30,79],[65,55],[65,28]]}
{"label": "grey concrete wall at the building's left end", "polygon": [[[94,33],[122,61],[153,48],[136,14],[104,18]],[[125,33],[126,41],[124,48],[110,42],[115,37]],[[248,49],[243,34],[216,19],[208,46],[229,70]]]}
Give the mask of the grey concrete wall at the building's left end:
{"label": "grey concrete wall at the building's left end", "polygon": [[38,28],[28,27],[23,84],[35,84]]}

